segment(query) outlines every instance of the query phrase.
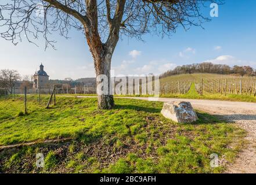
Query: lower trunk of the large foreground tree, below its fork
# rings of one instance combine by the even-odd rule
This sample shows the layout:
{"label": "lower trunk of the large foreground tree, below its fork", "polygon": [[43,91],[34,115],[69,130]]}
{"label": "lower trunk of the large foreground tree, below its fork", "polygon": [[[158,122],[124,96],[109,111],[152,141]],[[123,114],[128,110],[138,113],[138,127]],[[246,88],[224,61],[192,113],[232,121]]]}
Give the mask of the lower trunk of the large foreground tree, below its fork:
{"label": "lower trunk of the large foreground tree, below its fork", "polygon": [[114,107],[110,76],[112,53],[104,52],[101,56],[102,59],[100,59],[100,61],[96,61],[95,65],[98,108],[112,109]]}

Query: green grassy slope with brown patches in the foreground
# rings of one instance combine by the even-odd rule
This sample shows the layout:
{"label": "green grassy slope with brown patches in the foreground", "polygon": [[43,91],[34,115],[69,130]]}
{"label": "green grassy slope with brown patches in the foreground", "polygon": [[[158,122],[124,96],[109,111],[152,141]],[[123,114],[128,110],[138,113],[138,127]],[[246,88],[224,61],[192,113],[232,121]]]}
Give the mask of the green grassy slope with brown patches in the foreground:
{"label": "green grassy slope with brown patches in the foreground", "polygon": [[[0,103],[1,145],[74,137],[2,152],[0,172],[221,172],[223,166],[210,167],[210,154],[232,161],[245,135],[206,113],[197,113],[197,123],[176,124],[161,116],[161,102],[116,99],[113,110],[98,110],[96,98],[58,97],[55,108],[44,109],[31,97],[29,114],[21,117],[22,99]],[[37,153],[45,168],[35,167]]]}

